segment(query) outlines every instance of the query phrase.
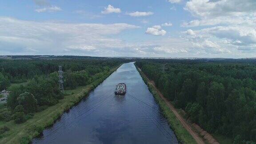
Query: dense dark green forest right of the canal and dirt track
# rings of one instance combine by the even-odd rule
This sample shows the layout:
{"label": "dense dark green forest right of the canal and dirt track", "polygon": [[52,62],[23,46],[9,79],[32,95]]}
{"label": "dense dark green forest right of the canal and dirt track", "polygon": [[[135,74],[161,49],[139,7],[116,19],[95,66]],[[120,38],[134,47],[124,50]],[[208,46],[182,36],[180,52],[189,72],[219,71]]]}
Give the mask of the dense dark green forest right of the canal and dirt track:
{"label": "dense dark green forest right of the canal and dirt track", "polygon": [[256,141],[256,64],[139,60],[136,65],[206,131],[236,144]]}

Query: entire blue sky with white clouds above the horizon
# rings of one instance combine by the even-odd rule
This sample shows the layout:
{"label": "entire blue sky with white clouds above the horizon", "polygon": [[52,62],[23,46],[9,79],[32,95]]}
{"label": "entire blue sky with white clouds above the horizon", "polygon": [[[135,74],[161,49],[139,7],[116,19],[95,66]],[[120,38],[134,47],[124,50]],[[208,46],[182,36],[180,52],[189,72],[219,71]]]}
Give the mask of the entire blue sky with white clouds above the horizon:
{"label": "entire blue sky with white clouds above the horizon", "polygon": [[256,0],[0,0],[0,55],[256,57]]}

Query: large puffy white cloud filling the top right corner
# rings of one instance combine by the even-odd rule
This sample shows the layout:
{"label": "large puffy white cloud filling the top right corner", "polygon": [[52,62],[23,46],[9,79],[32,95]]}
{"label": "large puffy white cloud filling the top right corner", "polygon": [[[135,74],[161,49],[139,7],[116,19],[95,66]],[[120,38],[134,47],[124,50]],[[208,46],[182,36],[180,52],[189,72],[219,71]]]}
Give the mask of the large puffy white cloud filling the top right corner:
{"label": "large puffy white cloud filling the top right corner", "polygon": [[256,24],[255,0],[191,0],[185,10],[199,18],[183,26],[196,27],[217,24]]}

